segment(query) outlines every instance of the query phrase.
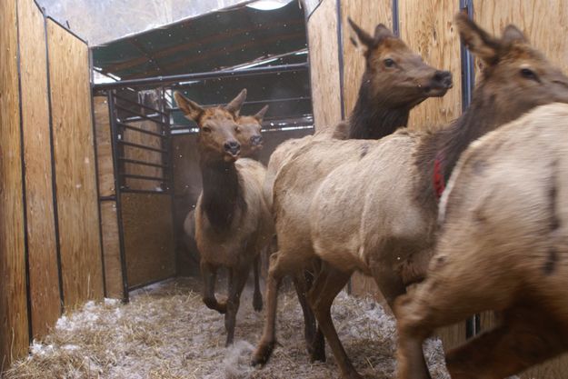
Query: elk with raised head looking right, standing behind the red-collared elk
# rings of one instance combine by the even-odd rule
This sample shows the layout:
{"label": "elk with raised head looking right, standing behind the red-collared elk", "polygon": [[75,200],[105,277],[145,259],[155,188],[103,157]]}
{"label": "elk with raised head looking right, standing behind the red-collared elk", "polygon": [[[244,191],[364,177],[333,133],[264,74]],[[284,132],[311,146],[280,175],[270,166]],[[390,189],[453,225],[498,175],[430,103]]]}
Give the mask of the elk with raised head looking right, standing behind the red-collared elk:
{"label": "elk with raised head looking right, standing behind the red-collared elk", "polygon": [[[348,122],[339,123],[333,131],[338,139],[378,139],[391,135],[406,126],[414,106],[429,97],[441,97],[452,88],[452,74],[426,65],[420,55],[414,54],[404,41],[397,38],[383,24],[367,34],[351,18],[354,32],[351,41],[360,48],[365,58],[365,70],[359,94]],[[327,133],[306,135],[279,145],[270,157],[264,180],[264,196],[273,201],[274,178],[286,160],[313,139],[327,139]]]}

